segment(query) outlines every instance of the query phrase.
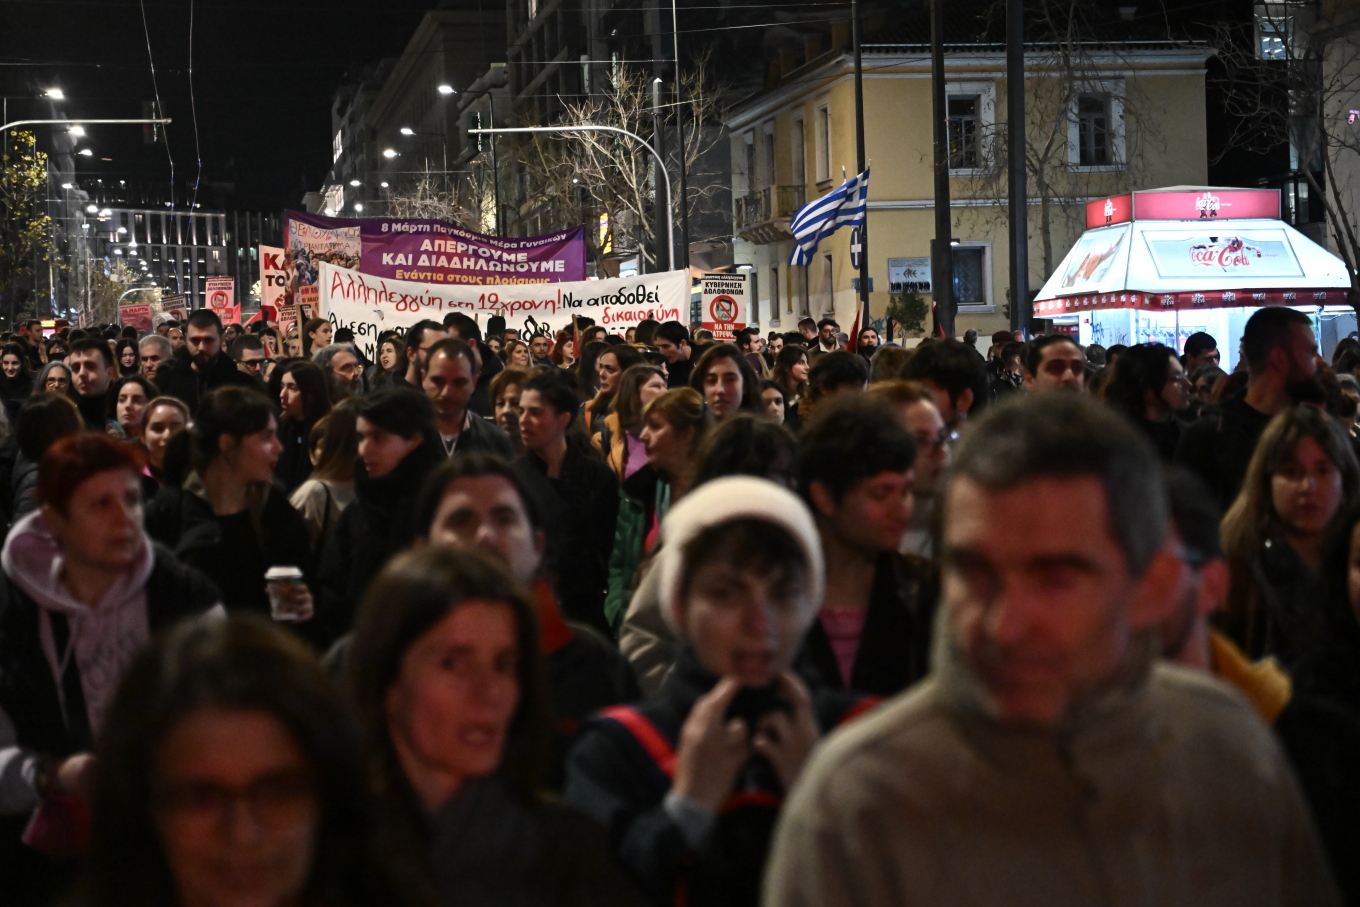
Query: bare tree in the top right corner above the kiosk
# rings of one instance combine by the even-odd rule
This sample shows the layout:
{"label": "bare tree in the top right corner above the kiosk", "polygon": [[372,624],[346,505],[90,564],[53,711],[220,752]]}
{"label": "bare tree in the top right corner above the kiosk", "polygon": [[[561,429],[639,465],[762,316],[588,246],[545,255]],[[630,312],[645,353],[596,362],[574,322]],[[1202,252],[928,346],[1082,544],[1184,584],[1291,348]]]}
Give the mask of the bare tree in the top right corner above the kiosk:
{"label": "bare tree in the top right corner above the kiosk", "polygon": [[1223,152],[1292,147],[1360,311],[1360,11],[1336,1],[1265,11],[1254,23],[1220,26],[1214,37],[1235,121]]}

